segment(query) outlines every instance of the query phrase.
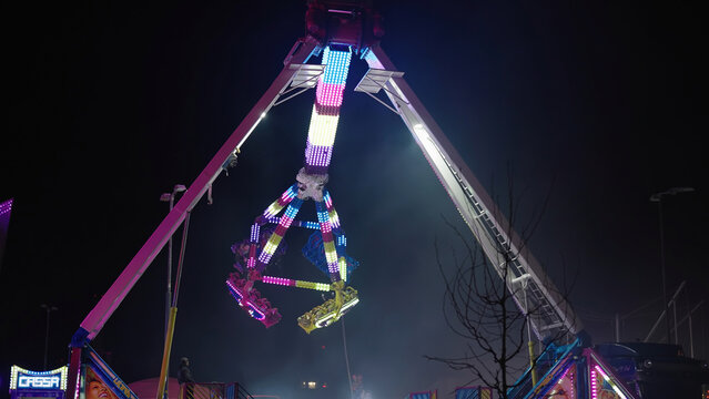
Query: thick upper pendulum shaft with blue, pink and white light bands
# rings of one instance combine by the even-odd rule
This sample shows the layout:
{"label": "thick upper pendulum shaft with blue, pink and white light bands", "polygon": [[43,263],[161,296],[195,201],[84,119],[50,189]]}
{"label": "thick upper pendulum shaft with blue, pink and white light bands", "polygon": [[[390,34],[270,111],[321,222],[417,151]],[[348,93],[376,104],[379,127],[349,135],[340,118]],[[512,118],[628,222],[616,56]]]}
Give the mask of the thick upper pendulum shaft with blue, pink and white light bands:
{"label": "thick upper pendulum shaft with blue, pink and white light bands", "polygon": [[351,60],[352,53],[348,50],[332,50],[330,47],[323,50],[322,63],[326,66],[317,82],[305,147],[307,173],[327,173]]}

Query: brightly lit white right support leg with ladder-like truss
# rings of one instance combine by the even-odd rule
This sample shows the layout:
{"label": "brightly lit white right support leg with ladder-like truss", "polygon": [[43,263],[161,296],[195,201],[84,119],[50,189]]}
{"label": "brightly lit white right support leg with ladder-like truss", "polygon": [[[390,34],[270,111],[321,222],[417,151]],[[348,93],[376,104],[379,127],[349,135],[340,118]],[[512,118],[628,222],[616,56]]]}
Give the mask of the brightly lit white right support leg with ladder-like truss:
{"label": "brightly lit white right support leg with ladder-like truss", "polygon": [[[364,58],[371,69],[396,71],[378,45],[371,48]],[[383,74],[383,71],[375,72]],[[496,272],[506,279],[517,306],[525,314],[534,310],[529,319],[537,337],[580,331],[580,320],[416,98],[403,73],[389,73],[382,89]]]}

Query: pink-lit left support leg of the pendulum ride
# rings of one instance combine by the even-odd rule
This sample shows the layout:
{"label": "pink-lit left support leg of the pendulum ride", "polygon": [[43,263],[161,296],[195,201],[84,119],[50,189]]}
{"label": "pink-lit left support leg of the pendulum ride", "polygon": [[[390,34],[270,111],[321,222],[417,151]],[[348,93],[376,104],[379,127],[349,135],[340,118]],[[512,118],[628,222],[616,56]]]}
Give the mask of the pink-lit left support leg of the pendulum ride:
{"label": "pink-lit left support leg of the pendulum ride", "polygon": [[[226,142],[219,150],[216,155],[210,161],[202,173],[194,180],[190,188],[183,194],[173,209],[160,223],[143,247],[135,254],[125,269],[115,279],[109,290],[101,297],[101,300],[89,313],[81,323],[83,334],[89,340],[93,339],[103,328],[105,321],[119,307],[125,295],[133,288],[138,279],[143,275],[148,266],[155,258],[158,253],[164,247],[168,239],[174,234],[180,224],[184,221],[188,212],[200,202],[204,193],[212,185],[214,180],[227,167],[239,152],[241,145],[246,141],[251,132],[269,112],[277,99],[285,92],[292,80],[310,57],[318,50],[318,43],[311,39],[298,40],[284,61],[285,66],[276,76],[269,90],[261,96],[256,105],[246,114],[236,130],[229,136]],[[81,329],[77,331],[80,334]]]}

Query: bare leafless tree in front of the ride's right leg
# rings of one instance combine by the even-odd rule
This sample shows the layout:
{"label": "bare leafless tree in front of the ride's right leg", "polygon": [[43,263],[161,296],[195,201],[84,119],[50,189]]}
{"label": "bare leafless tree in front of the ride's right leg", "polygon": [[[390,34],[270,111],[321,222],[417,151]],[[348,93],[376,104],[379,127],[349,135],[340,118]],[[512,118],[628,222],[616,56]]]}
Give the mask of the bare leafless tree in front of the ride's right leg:
{"label": "bare leafless tree in front of the ride's right leg", "polygon": [[[508,185],[508,233],[516,222],[518,208],[513,198],[512,183]],[[537,228],[548,195],[540,209],[535,209],[525,224],[520,237],[527,242]],[[429,360],[440,361],[454,370],[467,370],[472,374],[470,382],[482,385],[497,391],[498,398],[508,398],[508,390],[515,388],[517,378],[529,366],[526,348],[533,340],[530,319],[538,311],[535,307],[524,305],[521,309],[515,303],[516,287],[510,284],[514,276],[508,275],[509,264],[524,249],[521,244],[517,253],[508,247],[500,247],[495,259],[483,252],[480,245],[470,243],[453,224],[444,222],[463,244],[462,256],[455,248],[446,250],[452,260],[444,259],[444,254],[436,241],[436,262],[445,283],[443,310],[449,329],[464,338],[465,351],[459,357],[425,356]],[[453,263],[453,272],[447,264]],[[519,296],[517,296],[519,298]],[[549,345],[554,339],[546,340]],[[541,348],[541,350],[546,349]],[[531,352],[531,350],[530,350]],[[527,361],[525,361],[527,360]],[[533,359],[533,364],[536,359]]]}

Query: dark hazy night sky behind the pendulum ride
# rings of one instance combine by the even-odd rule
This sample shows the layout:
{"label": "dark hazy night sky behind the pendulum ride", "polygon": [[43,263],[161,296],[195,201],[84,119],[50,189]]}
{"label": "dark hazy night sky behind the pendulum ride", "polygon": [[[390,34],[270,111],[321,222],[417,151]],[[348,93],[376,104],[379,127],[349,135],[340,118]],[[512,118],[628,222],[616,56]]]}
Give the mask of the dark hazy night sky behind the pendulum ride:
{"label": "dark hazy night sky behind the pendulum ride", "polygon": [[[523,219],[549,196],[529,246],[558,285],[576,282],[570,300],[595,341],[612,339],[616,313],[649,304],[624,317],[629,340],[659,313],[652,193],[696,190],[664,203],[668,290],[688,282],[680,317],[708,299],[706,28],[693,6],[375,6],[382,47],[486,188],[499,194],[512,180]],[[305,1],[12,7],[0,142],[0,201],[14,198],[0,269],[3,392],[11,365],[42,368],[41,304],[59,307],[49,367],[67,361],[71,335],[166,214],[160,194],[192,183],[280,72],[304,33]],[[398,116],[352,91],[365,71],[353,63],[328,184],[361,262],[352,285],[362,303],[346,317],[351,368],[375,398],[455,387],[468,376],[423,355],[465,345],[444,325],[434,254],[434,239],[459,249],[444,218],[463,223]],[[194,209],[173,369],[189,356],[197,380],[240,381],[253,393],[286,397],[306,379],[328,382],[334,396],[344,389],[341,327],[308,336],[295,323],[318,294],[264,288],[284,316],[266,330],[223,283],[230,245],[302,166],[313,98],[274,109],[215,183],[214,204]],[[321,278],[300,255],[305,238],[286,236],[274,274]],[[129,382],[159,374],[165,275],[163,252],[93,341]],[[707,304],[693,324],[706,359]],[[687,348],[687,325],[680,331]]]}

